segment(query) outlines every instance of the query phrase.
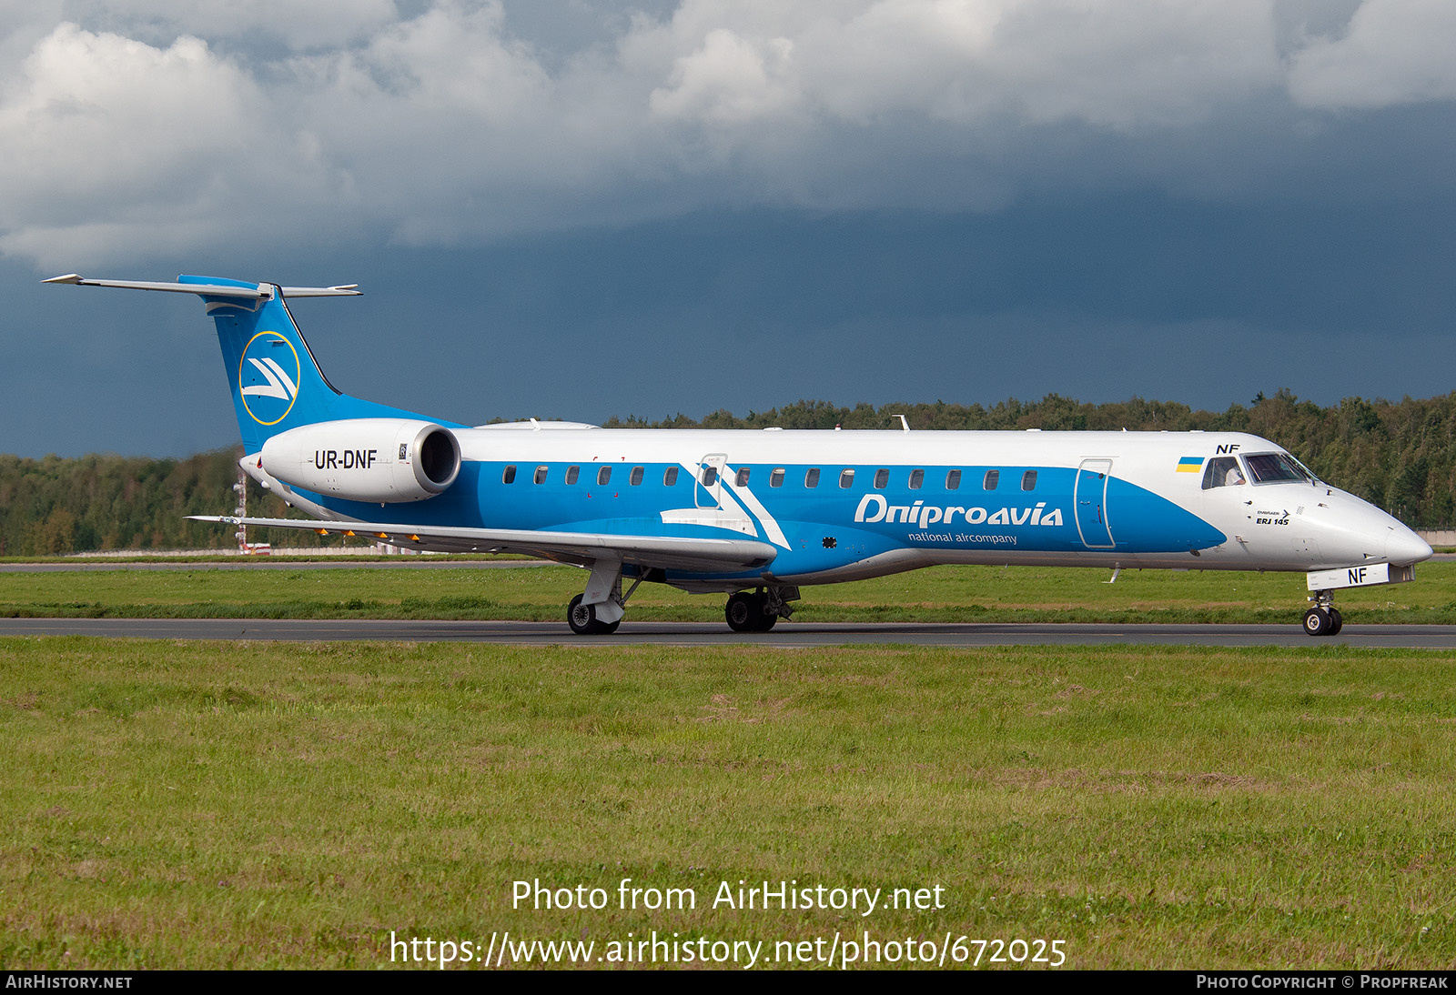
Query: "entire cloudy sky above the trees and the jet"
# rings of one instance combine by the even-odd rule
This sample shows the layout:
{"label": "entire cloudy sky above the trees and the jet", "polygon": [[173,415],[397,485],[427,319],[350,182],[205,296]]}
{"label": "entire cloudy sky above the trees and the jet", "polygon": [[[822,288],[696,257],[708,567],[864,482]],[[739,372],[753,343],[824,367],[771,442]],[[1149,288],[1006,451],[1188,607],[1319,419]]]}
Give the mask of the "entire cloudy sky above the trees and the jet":
{"label": "entire cloudy sky above the trees and the jet", "polygon": [[1456,390],[1450,0],[0,0],[0,451],[341,388],[600,420]]}

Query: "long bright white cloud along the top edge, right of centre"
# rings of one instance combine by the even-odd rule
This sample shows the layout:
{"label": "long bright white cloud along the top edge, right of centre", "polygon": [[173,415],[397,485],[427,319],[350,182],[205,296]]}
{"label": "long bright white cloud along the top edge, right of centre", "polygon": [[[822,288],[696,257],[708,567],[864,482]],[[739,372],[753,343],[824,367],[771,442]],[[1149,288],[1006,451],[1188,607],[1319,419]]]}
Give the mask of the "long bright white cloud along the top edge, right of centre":
{"label": "long bright white cloud along the top edge, right of centre", "polygon": [[[689,0],[654,109],[721,125],[789,100],[846,121],[1188,124],[1277,86],[1270,0]],[[686,49],[686,52],[683,51]]]}

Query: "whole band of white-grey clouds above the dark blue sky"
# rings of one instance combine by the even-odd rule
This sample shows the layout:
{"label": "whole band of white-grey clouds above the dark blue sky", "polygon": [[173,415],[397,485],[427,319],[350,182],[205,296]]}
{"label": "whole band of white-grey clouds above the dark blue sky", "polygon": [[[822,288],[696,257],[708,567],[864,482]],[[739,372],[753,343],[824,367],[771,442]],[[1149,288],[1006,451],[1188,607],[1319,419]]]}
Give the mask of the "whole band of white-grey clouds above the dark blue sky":
{"label": "whole band of white-grey clouds above the dark blue sky", "polygon": [[1287,79],[1274,0],[609,6],[607,42],[547,57],[491,0],[0,0],[0,252],[987,208],[1028,175],[1115,183],[1137,156],[1079,161],[1088,143],[1195,147],[1286,86],[1321,108],[1456,95],[1449,3],[1367,0],[1344,36],[1286,51]]}

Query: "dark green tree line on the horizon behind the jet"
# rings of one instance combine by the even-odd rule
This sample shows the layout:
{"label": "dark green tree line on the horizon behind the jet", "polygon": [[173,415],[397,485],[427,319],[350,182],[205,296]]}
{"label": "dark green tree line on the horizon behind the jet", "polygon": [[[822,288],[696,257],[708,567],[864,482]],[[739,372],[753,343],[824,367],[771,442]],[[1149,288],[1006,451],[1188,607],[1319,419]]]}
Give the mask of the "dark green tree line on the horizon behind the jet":
{"label": "dark green tree line on the horizon behind the jet", "polygon": [[[1134,397],[1089,404],[1048,394],[983,404],[856,404],[801,400],[737,416],[702,419],[613,417],[606,428],[885,429],[904,415],[911,429],[1044,429],[1252,432],[1278,442],[1322,479],[1385,508],[1415,528],[1456,524],[1456,393],[1399,401],[1347,397],[1334,406],[1302,401],[1287,390],[1259,394],[1226,412]],[[230,514],[237,503],[240,448],[186,460],[86,455],[42,460],[0,455],[0,556],[52,556],[87,550],[233,548],[233,530],[186,515]],[[282,518],[284,503],[248,481],[250,515]],[[336,544],[336,537],[294,532],[290,546]]]}

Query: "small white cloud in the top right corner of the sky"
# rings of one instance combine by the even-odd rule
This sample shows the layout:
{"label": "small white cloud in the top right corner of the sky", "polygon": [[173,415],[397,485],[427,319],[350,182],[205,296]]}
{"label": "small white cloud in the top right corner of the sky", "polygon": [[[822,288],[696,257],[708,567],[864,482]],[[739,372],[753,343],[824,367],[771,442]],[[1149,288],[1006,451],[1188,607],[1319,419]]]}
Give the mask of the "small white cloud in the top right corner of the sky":
{"label": "small white cloud in the top right corner of the sky", "polygon": [[1344,36],[1293,55],[1289,89],[1310,108],[1456,99],[1456,3],[1366,0]]}

